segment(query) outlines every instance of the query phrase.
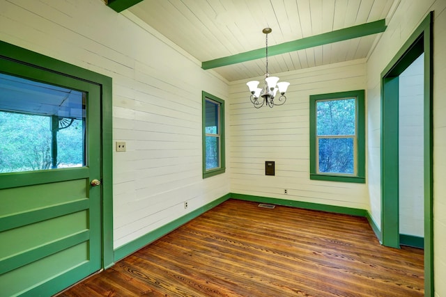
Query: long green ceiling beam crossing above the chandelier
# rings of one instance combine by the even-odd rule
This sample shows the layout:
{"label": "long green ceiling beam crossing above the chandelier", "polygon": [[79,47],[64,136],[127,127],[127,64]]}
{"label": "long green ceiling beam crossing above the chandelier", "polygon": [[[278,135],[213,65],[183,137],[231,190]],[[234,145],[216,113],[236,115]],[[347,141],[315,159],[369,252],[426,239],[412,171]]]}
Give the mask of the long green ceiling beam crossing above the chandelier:
{"label": "long green ceiling beam crossing above the chandelier", "polygon": [[[319,45],[327,45],[332,42],[360,38],[362,36],[384,32],[386,28],[387,26],[385,24],[385,19],[380,19],[376,22],[369,22],[366,24],[351,26],[345,29],[339,29],[332,32],[293,40],[290,42],[284,42],[279,45],[272,45],[268,47],[268,56],[286,54],[290,51],[298,51],[300,49],[308,49],[310,47],[317,47]],[[204,61],[203,63],[201,63],[201,68],[203,68],[203,70],[208,70],[216,67],[252,61],[264,57],[265,48],[263,47],[261,49],[245,51],[244,53],[235,54],[233,56],[226,56],[210,61]]]}

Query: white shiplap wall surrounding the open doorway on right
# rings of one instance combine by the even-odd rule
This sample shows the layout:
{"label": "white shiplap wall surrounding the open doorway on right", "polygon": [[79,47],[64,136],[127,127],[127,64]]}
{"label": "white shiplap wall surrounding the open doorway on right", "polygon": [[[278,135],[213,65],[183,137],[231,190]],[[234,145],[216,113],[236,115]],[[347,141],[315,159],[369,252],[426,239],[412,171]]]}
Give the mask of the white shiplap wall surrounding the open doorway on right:
{"label": "white shiplap wall surrounding the open doorway on right", "polygon": [[[446,1],[401,1],[367,61],[368,175],[372,216],[380,222],[380,73],[429,11],[433,20],[433,239],[436,296],[446,296]],[[378,162],[377,162],[378,161]]]}

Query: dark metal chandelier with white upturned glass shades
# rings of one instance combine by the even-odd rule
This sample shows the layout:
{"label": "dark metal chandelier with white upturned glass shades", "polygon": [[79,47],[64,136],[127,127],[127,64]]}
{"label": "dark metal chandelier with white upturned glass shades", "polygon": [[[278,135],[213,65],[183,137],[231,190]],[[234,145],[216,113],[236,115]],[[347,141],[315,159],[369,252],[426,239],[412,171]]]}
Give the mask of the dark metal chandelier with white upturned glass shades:
{"label": "dark metal chandelier with white upturned glass shades", "polygon": [[[265,28],[262,30],[266,34],[266,72],[265,72],[265,86],[263,88],[257,88],[259,86],[259,81],[248,81],[246,85],[251,92],[252,104],[256,109],[260,109],[263,104],[270,106],[272,108],[275,105],[282,105],[286,101],[285,92],[290,83],[282,81],[278,83],[279,77],[270,77],[268,73],[268,33],[271,33],[271,28]],[[275,96],[279,92],[280,97],[275,101]]]}

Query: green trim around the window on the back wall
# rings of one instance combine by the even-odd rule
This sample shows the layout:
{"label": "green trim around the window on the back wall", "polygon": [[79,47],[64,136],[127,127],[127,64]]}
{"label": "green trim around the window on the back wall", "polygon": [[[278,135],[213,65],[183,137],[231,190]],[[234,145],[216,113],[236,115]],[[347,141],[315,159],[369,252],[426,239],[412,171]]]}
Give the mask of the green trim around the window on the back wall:
{"label": "green trim around the window on the back wall", "polygon": [[[365,183],[365,104],[364,90],[353,90],[347,92],[328,93],[309,96],[309,148],[310,148],[310,179],[326,180],[332,182],[354,182]],[[322,100],[336,100],[356,98],[356,143],[355,164],[353,175],[343,175],[336,173],[318,173],[318,145],[316,136],[316,102]]]}

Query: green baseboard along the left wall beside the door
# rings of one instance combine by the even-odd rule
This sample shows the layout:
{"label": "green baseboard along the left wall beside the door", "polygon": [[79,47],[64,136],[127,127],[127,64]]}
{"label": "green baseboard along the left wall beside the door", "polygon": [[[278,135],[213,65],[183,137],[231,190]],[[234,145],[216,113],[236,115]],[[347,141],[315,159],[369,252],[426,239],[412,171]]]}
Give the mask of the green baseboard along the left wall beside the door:
{"label": "green baseboard along the left wall beside the door", "polygon": [[176,220],[173,220],[170,223],[167,223],[166,225],[159,227],[156,230],[153,230],[152,232],[144,234],[143,236],[134,239],[129,243],[125,243],[125,245],[120,246],[119,248],[116,248],[116,250],[114,250],[114,261],[116,262],[120,259],[123,259],[124,257],[127,257],[133,252],[136,252],[137,250],[143,248],[144,246],[147,246],[149,243],[161,238],[162,236],[168,234],[169,232],[174,231],[181,225],[184,225],[185,223],[189,222],[194,218],[197,218],[197,216],[204,214],[209,209],[216,207],[218,204],[221,204],[222,202],[228,200],[229,198],[231,198],[230,193],[214,200],[213,202],[204,205],[203,207],[200,207],[199,209],[195,209],[194,211],[191,211],[189,214],[177,218]]}

